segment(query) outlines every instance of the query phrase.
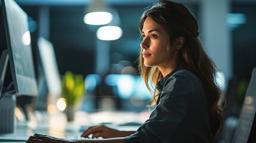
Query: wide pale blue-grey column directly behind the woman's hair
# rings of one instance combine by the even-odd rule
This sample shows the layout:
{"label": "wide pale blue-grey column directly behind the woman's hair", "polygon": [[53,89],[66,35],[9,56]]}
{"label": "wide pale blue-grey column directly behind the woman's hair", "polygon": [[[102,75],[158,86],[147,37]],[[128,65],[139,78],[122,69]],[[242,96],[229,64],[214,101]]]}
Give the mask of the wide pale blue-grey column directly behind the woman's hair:
{"label": "wide pale blue-grey column directly behind the woman's hair", "polygon": [[201,36],[205,51],[224,73],[225,89],[233,76],[231,32],[227,25],[229,0],[201,0]]}

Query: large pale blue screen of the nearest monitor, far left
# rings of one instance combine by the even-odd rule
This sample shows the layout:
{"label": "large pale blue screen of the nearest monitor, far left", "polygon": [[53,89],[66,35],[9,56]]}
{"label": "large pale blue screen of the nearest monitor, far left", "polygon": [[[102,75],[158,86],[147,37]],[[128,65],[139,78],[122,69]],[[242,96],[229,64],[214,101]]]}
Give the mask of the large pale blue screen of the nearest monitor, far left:
{"label": "large pale blue screen of the nearest monitor, far left", "polygon": [[38,95],[27,14],[13,0],[2,0],[7,48],[18,95]]}

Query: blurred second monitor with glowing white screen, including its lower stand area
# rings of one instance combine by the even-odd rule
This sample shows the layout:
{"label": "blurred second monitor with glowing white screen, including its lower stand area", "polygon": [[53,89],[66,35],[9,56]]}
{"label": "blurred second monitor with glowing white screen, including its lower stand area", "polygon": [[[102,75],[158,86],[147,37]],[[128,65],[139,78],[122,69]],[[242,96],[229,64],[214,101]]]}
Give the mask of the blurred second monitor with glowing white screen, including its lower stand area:
{"label": "blurred second monitor with glowing white screen, including its lower stand area", "polygon": [[57,60],[55,57],[53,43],[45,38],[38,38],[38,52],[41,61],[41,69],[47,86],[47,93],[44,97],[39,96],[43,100],[38,101],[38,105],[44,105],[47,107],[49,113],[56,113],[56,103],[61,97],[61,78],[58,71]]}

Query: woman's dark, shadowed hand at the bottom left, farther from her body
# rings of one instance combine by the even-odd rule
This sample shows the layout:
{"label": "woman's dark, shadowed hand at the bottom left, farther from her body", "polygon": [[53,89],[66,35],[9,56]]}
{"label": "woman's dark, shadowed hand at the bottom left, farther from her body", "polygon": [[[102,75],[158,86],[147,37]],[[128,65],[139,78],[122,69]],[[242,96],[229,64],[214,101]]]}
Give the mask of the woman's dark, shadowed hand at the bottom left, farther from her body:
{"label": "woman's dark, shadowed hand at the bottom left, farther from her body", "polygon": [[26,143],[66,143],[66,139],[61,139],[61,138],[54,138],[53,136],[48,136],[48,135],[40,135],[38,133],[35,133],[33,136],[30,136],[29,139],[27,139]]}

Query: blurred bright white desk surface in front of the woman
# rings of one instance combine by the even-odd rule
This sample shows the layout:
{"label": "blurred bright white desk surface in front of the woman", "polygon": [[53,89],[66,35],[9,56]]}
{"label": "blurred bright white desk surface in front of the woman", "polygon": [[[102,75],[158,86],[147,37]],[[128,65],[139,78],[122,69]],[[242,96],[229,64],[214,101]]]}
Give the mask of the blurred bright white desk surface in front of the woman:
{"label": "blurred bright white desk surface in front of the woman", "polygon": [[26,123],[17,122],[14,133],[0,135],[1,138],[28,139],[34,133],[55,136],[57,138],[79,139],[83,130],[88,126],[107,123],[108,126],[119,130],[137,130],[135,126],[118,126],[127,122],[143,123],[148,119],[149,113],[131,113],[122,111],[101,111],[85,113],[78,111],[73,122],[67,122],[64,113],[47,114],[35,113],[35,119]]}

